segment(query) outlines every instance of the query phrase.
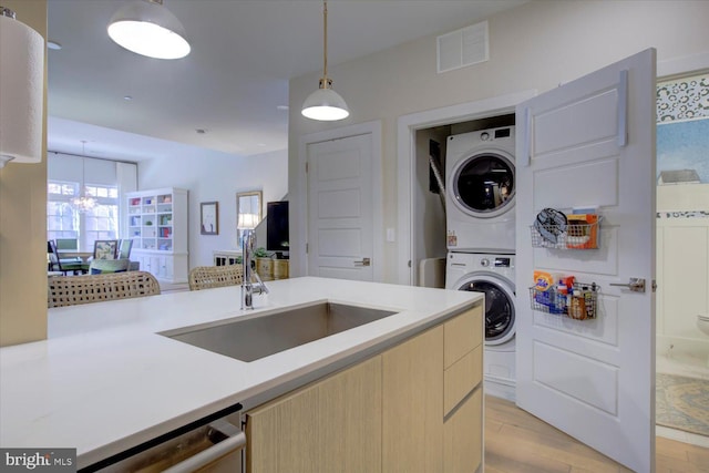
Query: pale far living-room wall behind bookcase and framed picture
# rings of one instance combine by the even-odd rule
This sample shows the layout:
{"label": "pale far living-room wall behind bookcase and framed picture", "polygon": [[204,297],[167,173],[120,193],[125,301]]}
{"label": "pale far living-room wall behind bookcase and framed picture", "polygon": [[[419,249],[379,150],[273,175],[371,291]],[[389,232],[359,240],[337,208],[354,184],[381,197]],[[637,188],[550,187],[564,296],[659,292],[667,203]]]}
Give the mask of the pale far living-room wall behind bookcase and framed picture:
{"label": "pale far living-room wall behind bookcase and framed picture", "polygon": [[[263,191],[266,203],[288,193],[288,155],[278,151],[255,156],[195,151],[188,157],[161,157],[138,163],[138,191],[179,187],[188,195],[189,267],[213,265],[215,249],[237,249],[236,193]],[[219,234],[199,234],[199,203],[219,203]],[[266,241],[258,243],[266,246]]]}

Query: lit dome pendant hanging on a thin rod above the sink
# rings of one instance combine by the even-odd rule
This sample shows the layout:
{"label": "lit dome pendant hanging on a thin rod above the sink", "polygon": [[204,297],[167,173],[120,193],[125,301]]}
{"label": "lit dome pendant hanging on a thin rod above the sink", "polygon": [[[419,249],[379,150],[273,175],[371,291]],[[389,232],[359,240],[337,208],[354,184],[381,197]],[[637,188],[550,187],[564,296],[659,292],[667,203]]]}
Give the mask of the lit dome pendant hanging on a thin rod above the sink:
{"label": "lit dome pendant hanging on a thin rod above the sink", "polygon": [[322,1],[323,48],[322,78],[317,91],[302,104],[302,115],[322,122],[347,119],[350,114],[345,99],[332,90],[332,80],[328,78],[328,1]]}

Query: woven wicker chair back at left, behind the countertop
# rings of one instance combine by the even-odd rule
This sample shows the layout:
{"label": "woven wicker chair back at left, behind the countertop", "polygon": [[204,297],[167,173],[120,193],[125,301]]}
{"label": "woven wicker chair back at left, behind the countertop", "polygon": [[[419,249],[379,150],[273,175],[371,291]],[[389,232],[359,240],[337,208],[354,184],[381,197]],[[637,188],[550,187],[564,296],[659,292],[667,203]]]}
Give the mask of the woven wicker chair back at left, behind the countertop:
{"label": "woven wicker chair back at left, behind the countertop", "polygon": [[50,276],[47,279],[49,307],[76,306],[160,294],[157,279],[145,271]]}

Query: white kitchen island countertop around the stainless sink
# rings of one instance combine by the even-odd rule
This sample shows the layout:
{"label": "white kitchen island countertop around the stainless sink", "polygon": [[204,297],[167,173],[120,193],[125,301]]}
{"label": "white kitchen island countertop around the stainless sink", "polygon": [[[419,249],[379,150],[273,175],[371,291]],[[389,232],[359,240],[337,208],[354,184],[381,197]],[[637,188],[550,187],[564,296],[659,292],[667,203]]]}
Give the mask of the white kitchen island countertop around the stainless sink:
{"label": "white kitchen island countertop around the stainless sink", "polygon": [[[79,467],[469,308],[482,295],[321,278],[49,309],[49,339],[0,349],[0,446],[76,448]],[[243,362],[157,335],[319,300],[393,316]]]}

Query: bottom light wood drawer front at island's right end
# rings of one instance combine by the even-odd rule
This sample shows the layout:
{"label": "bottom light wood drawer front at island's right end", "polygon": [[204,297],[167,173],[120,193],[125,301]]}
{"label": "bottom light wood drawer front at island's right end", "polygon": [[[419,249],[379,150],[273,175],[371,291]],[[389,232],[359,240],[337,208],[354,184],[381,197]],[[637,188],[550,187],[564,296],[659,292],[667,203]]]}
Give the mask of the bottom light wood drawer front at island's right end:
{"label": "bottom light wood drawer front at island's right end", "polygon": [[473,473],[482,461],[482,387],[465,399],[443,424],[443,471]]}

